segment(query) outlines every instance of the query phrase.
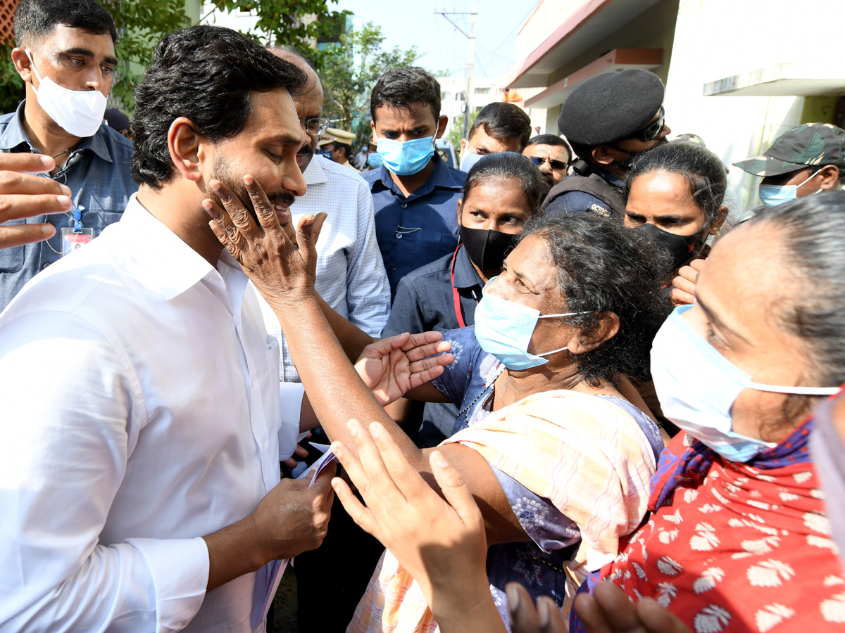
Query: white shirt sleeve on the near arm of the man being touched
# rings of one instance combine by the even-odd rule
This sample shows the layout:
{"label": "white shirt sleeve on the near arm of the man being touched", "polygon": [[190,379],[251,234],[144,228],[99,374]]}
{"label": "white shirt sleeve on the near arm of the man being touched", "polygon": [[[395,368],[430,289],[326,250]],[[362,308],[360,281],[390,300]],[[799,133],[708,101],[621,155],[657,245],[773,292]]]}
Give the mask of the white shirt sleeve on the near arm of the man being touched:
{"label": "white shirt sleeve on the near arm of the man being touched", "polygon": [[26,314],[3,324],[0,393],[0,629],[188,625],[202,538],[100,538],[146,423],[127,360],[74,315]]}

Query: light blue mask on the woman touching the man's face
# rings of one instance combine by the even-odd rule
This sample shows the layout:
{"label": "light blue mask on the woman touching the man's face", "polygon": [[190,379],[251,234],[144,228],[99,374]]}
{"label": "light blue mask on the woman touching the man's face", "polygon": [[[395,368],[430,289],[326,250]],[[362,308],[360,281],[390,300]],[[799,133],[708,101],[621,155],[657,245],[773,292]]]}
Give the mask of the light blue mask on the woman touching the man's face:
{"label": "light blue mask on the woman touching the man's face", "polygon": [[[488,284],[493,282],[493,279],[490,279]],[[569,317],[573,314],[581,313],[541,315],[539,310],[484,293],[476,306],[475,334],[481,348],[501,360],[509,370],[531,369],[548,363],[543,356],[569,349],[562,347],[544,354],[529,354],[528,344],[531,343],[534,328],[537,327],[537,319]]]}

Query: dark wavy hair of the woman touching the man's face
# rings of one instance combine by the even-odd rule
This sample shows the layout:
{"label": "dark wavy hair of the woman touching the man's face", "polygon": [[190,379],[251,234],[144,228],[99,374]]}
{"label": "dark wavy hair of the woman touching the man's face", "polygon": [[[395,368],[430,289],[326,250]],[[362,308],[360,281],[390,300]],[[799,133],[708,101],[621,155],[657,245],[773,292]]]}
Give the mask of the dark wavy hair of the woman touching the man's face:
{"label": "dark wavy hair of the woman touching the man's face", "polygon": [[558,269],[557,281],[566,301],[559,317],[590,337],[599,315],[619,317],[619,333],[596,349],[572,354],[592,385],[615,381],[619,374],[638,380],[651,377],[651,341],[672,311],[663,271],[668,254],[654,247],[641,231],[625,229],[596,215],[541,217],[526,225],[521,240],[541,238]]}

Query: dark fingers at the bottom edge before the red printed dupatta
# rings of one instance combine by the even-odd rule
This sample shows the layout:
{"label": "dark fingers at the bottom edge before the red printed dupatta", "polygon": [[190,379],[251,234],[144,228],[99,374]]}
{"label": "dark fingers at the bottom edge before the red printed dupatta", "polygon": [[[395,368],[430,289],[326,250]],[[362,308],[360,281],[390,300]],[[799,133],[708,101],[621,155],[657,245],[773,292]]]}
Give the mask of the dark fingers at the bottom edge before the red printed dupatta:
{"label": "dark fingers at the bottom edge before the red printed dupatta", "polygon": [[631,603],[613,582],[600,582],[592,595],[575,598],[575,611],[588,633],[690,633],[668,609],[651,598]]}

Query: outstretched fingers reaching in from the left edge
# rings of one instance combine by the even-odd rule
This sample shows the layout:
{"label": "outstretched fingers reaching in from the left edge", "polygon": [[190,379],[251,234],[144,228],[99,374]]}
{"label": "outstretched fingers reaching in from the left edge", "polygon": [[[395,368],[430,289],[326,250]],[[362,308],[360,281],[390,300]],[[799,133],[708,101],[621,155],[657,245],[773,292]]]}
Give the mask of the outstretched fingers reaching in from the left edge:
{"label": "outstretched fingers reaching in from the left edge", "polygon": [[[68,187],[51,178],[31,176],[55,166],[52,158],[42,154],[0,154],[0,225],[70,209]],[[0,249],[47,240],[55,233],[49,224],[0,226]]]}

